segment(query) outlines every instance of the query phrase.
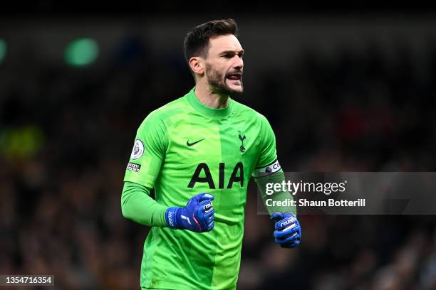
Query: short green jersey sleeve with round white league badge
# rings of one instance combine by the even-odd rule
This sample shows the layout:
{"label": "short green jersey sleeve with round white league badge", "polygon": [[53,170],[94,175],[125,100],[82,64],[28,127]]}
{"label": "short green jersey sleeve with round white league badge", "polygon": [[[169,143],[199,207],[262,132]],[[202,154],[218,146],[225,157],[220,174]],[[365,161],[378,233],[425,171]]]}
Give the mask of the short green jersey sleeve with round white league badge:
{"label": "short green jersey sleeve with round white league badge", "polygon": [[137,129],[124,181],[152,188],[165,159],[167,144],[167,129],[162,119],[153,113],[148,115]]}

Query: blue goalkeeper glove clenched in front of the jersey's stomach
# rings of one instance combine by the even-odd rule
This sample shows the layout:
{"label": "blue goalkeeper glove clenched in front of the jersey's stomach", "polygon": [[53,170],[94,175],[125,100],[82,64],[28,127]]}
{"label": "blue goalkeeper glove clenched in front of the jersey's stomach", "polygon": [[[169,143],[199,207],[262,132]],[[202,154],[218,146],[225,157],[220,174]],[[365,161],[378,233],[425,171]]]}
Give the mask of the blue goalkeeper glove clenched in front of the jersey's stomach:
{"label": "blue goalkeeper glove clenched in front of the jersey's stomach", "polygon": [[192,230],[192,232],[209,232],[215,225],[213,199],[212,194],[199,193],[187,202],[185,208],[168,208],[165,211],[168,227],[177,230]]}

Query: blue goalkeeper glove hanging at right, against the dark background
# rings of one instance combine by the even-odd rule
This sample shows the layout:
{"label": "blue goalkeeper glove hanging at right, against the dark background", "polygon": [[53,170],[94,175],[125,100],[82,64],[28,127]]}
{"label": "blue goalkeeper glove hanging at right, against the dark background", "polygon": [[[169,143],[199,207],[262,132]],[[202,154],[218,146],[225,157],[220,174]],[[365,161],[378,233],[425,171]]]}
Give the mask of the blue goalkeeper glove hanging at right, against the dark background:
{"label": "blue goalkeeper glove hanging at right, against the dark background", "polygon": [[273,213],[271,220],[275,220],[274,240],[281,247],[293,248],[300,245],[301,227],[296,215],[291,213]]}

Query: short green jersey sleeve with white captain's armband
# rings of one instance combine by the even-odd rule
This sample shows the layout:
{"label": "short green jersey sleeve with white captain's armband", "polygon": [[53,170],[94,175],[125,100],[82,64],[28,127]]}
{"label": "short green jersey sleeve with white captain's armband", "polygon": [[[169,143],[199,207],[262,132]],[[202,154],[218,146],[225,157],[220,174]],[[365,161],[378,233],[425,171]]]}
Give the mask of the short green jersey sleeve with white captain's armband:
{"label": "short green jersey sleeve with white captain's armband", "polygon": [[281,170],[279,161],[277,161],[276,136],[274,136],[274,131],[264,116],[261,116],[259,138],[261,139],[261,146],[253,171],[255,178],[267,176]]}

